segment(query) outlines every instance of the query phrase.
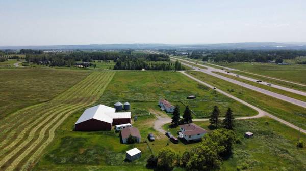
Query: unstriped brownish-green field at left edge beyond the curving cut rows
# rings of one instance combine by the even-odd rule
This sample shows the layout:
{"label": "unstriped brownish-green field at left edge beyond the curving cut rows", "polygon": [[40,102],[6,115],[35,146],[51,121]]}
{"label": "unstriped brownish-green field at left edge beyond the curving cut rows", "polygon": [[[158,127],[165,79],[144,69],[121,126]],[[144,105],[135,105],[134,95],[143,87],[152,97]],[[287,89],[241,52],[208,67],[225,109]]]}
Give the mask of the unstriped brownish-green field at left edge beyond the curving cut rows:
{"label": "unstriped brownish-green field at left edge beyond the curving cut rows", "polygon": [[81,70],[0,69],[0,118],[48,101],[89,74]]}

